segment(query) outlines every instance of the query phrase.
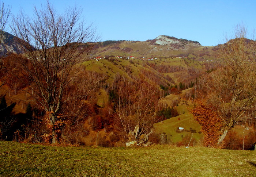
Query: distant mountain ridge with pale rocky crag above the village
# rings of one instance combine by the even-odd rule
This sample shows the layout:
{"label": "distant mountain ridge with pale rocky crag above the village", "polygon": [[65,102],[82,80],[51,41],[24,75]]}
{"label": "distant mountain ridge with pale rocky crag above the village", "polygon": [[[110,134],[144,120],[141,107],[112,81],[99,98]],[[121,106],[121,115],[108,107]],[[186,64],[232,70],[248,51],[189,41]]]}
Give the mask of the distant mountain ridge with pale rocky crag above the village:
{"label": "distant mountain ridge with pale rocky crag above the village", "polygon": [[178,39],[172,36],[159,35],[147,41],[103,41],[97,42],[91,58],[96,56],[134,56],[137,58],[152,57],[189,57],[198,61],[216,58],[213,46],[202,46],[197,41]]}

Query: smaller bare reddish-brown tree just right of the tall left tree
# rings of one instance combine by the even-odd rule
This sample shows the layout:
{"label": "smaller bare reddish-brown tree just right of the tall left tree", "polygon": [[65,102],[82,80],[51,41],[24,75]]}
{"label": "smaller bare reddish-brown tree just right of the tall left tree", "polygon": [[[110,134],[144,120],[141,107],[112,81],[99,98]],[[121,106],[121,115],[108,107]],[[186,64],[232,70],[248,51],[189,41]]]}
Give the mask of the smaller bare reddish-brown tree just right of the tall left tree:
{"label": "smaller bare reddish-brown tree just right of the tall left tree", "polygon": [[85,121],[94,112],[97,93],[105,80],[105,74],[84,70],[72,79],[72,84],[65,88],[61,108],[65,124],[61,131],[62,142],[78,144],[82,137],[89,134],[92,127],[85,126]]}

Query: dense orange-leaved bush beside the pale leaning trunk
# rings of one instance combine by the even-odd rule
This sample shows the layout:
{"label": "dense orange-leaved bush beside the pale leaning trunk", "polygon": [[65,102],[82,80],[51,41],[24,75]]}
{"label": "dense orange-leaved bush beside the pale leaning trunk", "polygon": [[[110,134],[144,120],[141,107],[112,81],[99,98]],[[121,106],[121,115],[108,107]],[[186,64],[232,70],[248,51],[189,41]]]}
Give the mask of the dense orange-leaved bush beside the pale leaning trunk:
{"label": "dense orange-leaved bush beside the pale leaning trunk", "polygon": [[209,105],[205,105],[202,101],[198,101],[197,105],[191,109],[196,121],[201,125],[204,133],[204,146],[206,147],[220,147],[217,145],[220,129],[222,127],[222,119],[217,112]]}

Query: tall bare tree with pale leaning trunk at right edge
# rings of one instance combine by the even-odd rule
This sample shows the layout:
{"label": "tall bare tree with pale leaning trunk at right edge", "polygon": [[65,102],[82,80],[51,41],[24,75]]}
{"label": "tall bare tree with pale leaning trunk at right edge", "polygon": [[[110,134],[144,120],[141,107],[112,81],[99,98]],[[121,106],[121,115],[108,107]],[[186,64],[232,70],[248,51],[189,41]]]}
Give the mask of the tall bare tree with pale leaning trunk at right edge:
{"label": "tall bare tree with pale leaning trunk at right edge", "polygon": [[256,42],[246,38],[246,28],[238,25],[234,39],[219,47],[222,65],[205,78],[207,100],[223,120],[222,143],[227,132],[239,122],[255,119]]}

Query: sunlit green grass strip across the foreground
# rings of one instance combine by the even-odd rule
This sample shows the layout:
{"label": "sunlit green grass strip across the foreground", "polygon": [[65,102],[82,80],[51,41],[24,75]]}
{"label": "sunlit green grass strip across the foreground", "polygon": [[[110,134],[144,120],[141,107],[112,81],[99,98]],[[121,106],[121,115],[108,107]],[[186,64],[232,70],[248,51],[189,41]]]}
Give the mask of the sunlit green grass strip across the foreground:
{"label": "sunlit green grass strip across the foreground", "polygon": [[56,147],[0,141],[0,176],[256,176],[256,151]]}

